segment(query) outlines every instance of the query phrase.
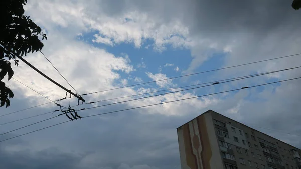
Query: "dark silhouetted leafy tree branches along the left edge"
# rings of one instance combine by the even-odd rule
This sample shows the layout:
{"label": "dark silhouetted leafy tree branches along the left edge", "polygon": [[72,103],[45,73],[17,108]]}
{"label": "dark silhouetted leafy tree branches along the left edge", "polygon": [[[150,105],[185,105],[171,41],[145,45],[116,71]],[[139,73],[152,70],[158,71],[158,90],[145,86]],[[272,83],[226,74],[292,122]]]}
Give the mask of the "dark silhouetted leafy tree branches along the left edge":
{"label": "dark silhouetted leafy tree branches along the left edge", "polygon": [[18,66],[18,60],[12,52],[23,56],[43,48],[42,40],[46,37],[39,26],[29,16],[24,15],[23,6],[27,0],[0,0],[0,107],[10,106],[9,98],[14,93],[2,81],[8,75],[8,80],[14,75],[11,62]]}

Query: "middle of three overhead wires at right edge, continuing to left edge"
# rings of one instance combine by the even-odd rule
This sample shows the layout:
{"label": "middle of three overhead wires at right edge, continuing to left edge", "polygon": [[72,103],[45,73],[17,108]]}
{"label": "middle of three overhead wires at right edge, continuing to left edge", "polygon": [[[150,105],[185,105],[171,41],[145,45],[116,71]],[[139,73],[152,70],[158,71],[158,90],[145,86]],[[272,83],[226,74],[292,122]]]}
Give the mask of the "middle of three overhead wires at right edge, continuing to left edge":
{"label": "middle of three overhead wires at right edge, continuing to left edge", "polygon": [[[270,73],[276,73],[276,72],[286,71],[286,70],[290,70],[290,69],[296,69],[296,68],[300,68],[300,67],[301,67],[301,66],[299,66],[299,67],[293,67],[293,68],[287,68],[287,69],[281,69],[281,70],[276,70],[276,71],[270,71],[270,72],[264,72],[264,73],[258,73],[258,74],[253,74],[253,75],[247,75],[247,76],[240,76],[240,77],[229,78],[229,79],[224,79],[224,80],[218,80],[218,82],[226,81],[226,80],[233,80],[233,79],[240,80],[239,78],[247,78],[247,77],[261,76],[261,75],[266,75],[266,74],[270,74]],[[183,87],[177,87],[177,88],[170,88],[170,89],[165,89],[165,90],[155,91],[155,92],[168,91],[168,90],[173,90],[173,89],[178,89],[178,88],[185,88],[185,87],[191,87],[191,86],[202,85],[202,84],[210,84],[210,83],[212,84],[212,83],[214,83],[214,82],[217,82],[217,81],[206,82],[206,83],[200,83],[200,84],[189,85],[189,86],[183,86]],[[204,87],[204,86],[203,86],[203,87]],[[144,95],[144,94],[150,94],[150,93],[155,93],[155,92],[148,92],[148,93],[136,94],[136,95],[131,95],[131,96],[124,96],[124,97],[119,97],[119,98],[114,98],[114,99],[120,99],[120,98],[126,98],[126,97],[133,97],[133,96]],[[165,94],[168,94],[168,93],[165,93]],[[157,96],[157,95],[156,95],[156,96]],[[92,103],[97,103],[97,102],[101,102],[101,101],[109,101],[109,100],[114,100],[114,99],[100,100],[100,101],[90,102],[90,103],[86,103],[86,104],[92,104]],[[114,104],[118,104],[118,103],[114,103]],[[77,106],[78,106],[78,105],[76,105],[76,107],[77,107]],[[102,105],[102,106],[105,106],[105,105]],[[75,107],[75,106],[71,106],[71,107]],[[6,122],[6,123],[3,123],[3,124],[0,124],[0,126],[1,126],[1,125],[5,125],[5,124],[10,124],[10,123],[13,123],[13,122],[16,122],[16,121],[21,121],[21,120],[25,120],[25,119],[29,119],[29,118],[41,116],[41,115],[46,115],[46,114],[54,113],[54,112],[56,112],[56,111],[59,111],[59,110],[55,110],[55,111],[51,111],[51,112],[47,112],[47,113],[43,113],[43,114],[38,114],[38,115],[34,115],[34,116],[22,118],[22,119],[19,119],[19,120],[14,120],[14,121]]]}

